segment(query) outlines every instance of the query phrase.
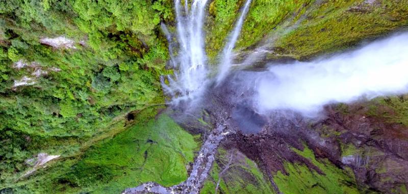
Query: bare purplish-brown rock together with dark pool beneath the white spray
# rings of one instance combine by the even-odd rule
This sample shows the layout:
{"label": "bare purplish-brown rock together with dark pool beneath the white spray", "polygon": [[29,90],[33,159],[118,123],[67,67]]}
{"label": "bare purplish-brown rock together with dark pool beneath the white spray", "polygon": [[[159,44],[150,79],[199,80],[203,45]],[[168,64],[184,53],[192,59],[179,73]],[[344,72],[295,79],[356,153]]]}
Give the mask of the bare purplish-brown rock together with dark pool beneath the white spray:
{"label": "bare purplish-brown rock together with dark pool beneath the white spray", "polygon": [[[346,112],[338,105],[328,105],[324,116],[313,119],[284,111],[257,115],[251,111],[251,104],[245,102],[253,92],[235,87],[234,80],[231,82],[212,91],[213,98],[208,103],[212,105],[206,107],[206,111],[215,117],[226,114],[223,116],[227,118],[225,125],[235,132],[221,142],[221,147],[236,149],[257,161],[271,185],[275,185],[277,172],[289,176],[288,163],[306,166],[310,172],[322,176],[331,173],[299,153],[310,149],[317,161],[334,166],[336,171],[350,169],[351,174],[344,174],[353,182],[344,182],[346,186],[381,193],[403,193],[408,188],[408,176],[405,176],[408,174],[408,127],[381,116],[393,114],[393,110],[379,108],[377,116],[373,116],[369,102],[355,102],[346,105]],[[238,111],[243,114],[236,117],[234,110],[237,107],[241,110],[242,106],[245,111]],[[240,124],[243,117],[257,125]]]}

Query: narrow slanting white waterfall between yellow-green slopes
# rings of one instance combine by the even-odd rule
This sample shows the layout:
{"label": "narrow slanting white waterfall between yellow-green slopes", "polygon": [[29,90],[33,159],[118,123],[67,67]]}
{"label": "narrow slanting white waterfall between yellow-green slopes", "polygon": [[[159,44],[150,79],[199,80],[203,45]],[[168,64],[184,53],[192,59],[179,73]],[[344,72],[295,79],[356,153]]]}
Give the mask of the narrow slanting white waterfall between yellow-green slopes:
{"label": "narrow slanting white waterfall between yellow-green slopes", "polygon": [[237,42],[238,40],[238,36],[242,28],[242,23],[244,21],[246,13],[248,12],[250,4],[251,0],[247,0],[244,8],[242,9],[241,15],[237,20],[234,31],[231,33],[230,38],[227,44],[225,45],[224,50],[222,51],[221,64],[218,69],[217,84],[219,84],[225,78],[225,76],[228,74],[228,70],[230,70],[233,48],[235,46],[235,42]]}

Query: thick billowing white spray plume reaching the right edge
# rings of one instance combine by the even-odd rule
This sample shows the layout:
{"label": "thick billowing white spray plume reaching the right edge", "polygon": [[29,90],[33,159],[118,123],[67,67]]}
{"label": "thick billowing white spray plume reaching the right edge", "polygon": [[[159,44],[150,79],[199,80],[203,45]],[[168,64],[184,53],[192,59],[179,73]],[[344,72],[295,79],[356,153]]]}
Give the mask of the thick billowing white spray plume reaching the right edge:
{"label": "thick billowing white spray plume reaching the right edge", "polygon": [[313,116],[328,103],[408,92],[408,33],[314,62],[272,64],[256,88],[259,110]]}

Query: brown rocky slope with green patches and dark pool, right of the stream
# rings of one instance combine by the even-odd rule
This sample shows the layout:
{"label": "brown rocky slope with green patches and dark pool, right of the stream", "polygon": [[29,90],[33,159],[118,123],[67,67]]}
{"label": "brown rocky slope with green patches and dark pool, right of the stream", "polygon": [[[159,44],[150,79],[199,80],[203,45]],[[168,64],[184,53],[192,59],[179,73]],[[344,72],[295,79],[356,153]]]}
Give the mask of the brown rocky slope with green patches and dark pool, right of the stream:
{"label": "brown rocky slope with green patches and dark pool, right of the stream", "polygon": [[[400,109],[406,96],[327,105],[321,117],[311,119],[291,111],[257,114],[242,103],[251,92],[234,85],[213,91],[213,103],[206,106],[212,120],[226,117],[225,125],[236,133],[221,143],[203,192],[406,192],[408,127]],[[257,165],[252,169],[244,161]]]}

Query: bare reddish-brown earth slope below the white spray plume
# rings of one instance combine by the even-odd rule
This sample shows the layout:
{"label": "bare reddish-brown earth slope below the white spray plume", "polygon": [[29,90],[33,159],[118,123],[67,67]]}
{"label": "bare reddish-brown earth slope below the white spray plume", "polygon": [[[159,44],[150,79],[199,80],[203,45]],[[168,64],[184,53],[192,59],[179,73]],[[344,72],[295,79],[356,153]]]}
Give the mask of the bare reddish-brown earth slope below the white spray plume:
{"label": "bare reddish-brown earth slope below the white spray plume", "polygon": [[[367,116],[367,103],[348,106],[341,113],[336,106],[326,106],[326,117],[317,122],[292,115],[275,115],[258,134],[232,134],[224,148],[236,148],[258,165],[270,178],[284,163],[302,163],[324,175],[310,160],[291,148],[303,150],[303,143],[316,158],[327,158],[339,168],[353,169],[356,183],[364,192],[392,193],[400,185],[408,187],[408,128],[390,123],[387,118]],[[380,111],[388,111],[384,109]],[[342,156],[342,145],[352,144],[356,153]],[[273,183],[272,183],[273,184]]]}

